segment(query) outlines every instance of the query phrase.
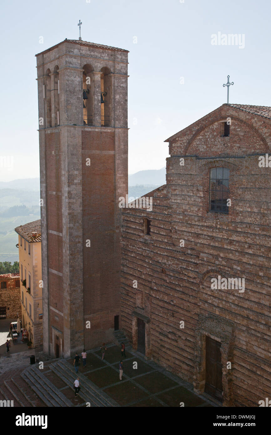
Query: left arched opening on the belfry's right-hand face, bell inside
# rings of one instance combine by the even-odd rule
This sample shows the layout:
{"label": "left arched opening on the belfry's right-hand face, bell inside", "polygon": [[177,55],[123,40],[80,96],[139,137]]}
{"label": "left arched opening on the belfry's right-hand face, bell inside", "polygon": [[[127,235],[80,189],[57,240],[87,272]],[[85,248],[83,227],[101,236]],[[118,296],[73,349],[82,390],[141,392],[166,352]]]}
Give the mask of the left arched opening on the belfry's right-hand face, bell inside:
{"label": "left arched opening on the belfry's right-hand face, bell inside", "polygon": [[91,83],[93,67],[89,64],[83,67],[83,119],[84,125],[93,125],[94,85]]}

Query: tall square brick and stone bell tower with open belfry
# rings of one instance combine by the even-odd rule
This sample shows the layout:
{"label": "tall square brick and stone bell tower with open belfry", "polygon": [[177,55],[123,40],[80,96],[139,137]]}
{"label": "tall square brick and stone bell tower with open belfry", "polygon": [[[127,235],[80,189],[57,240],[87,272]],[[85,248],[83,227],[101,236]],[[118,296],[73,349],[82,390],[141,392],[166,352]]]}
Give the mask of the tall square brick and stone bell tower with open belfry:
{"label": "tall square brick and stone bell tower with open belfry", "polygon": [[69,357],[118,328],[128,51],[66,39],[36,57],[43,350]]}

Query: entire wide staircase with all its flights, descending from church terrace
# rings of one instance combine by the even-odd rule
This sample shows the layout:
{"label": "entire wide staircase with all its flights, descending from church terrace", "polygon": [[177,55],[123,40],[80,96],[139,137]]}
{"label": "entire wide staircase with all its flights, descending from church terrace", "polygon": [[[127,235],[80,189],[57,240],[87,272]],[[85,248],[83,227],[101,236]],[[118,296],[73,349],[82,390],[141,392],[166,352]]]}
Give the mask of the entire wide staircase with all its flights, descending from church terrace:
{"label": "entire wide staircase with all its flights, descending from church terrace", "polygon": [[80,403],[74,397],[74,368],[62,358],[47,361],[43,370],[36,364],[0,376],[0,400],[13,401],[14,407],[119,406],[106,393],[98,391],[87,376],[82,373],[79,376]]}

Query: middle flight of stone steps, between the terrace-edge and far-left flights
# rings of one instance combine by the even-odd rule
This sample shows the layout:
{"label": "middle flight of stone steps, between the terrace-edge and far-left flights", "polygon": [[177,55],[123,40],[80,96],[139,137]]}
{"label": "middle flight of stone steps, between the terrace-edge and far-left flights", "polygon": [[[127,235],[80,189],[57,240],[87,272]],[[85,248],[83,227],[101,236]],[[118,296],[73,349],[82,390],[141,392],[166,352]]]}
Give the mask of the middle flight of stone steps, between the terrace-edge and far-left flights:
{"label": "middle flight of stone steps, between the terrace-edge and far-left flights", "polygon": [[27,368],[21,374],[22,378],[35,391],[40,399],[49,407],[74,406],[61,391],[40,372],[37,367]]}

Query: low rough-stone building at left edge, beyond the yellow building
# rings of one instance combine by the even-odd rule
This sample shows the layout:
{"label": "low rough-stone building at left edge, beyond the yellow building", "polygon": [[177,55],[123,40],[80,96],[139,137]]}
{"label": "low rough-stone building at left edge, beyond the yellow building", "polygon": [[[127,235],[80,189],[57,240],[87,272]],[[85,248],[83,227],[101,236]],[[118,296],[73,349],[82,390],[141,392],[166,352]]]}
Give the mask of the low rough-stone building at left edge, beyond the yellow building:
{"label": "low rough-stone building at left edge, beyond the yellow building", "polygon": [[20,276],[9,275],[0,275],[0,307],[6,308],[7,319],[16,319],[21,313]]}

